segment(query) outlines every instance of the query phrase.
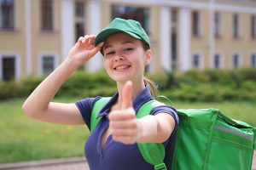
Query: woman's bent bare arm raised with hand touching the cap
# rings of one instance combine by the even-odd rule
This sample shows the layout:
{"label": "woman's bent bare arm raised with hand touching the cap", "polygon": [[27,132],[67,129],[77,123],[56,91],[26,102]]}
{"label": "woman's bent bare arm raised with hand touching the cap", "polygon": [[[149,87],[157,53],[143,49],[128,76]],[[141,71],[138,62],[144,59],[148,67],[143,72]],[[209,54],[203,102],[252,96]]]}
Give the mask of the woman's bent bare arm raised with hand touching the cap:
{"label": "woman's bent bare arm raised with hand touching the cap", "polygon": [[67,80],[82,65],[93,57],[102,47],[102,43],[96,47],[93,45],[94,35],[80,37],[71,48],[67,59],[46,77],[22,105],[27,116],[40,121],[60,124],[84,123],[79,109],[74,104],[51,102],[62,83]]}

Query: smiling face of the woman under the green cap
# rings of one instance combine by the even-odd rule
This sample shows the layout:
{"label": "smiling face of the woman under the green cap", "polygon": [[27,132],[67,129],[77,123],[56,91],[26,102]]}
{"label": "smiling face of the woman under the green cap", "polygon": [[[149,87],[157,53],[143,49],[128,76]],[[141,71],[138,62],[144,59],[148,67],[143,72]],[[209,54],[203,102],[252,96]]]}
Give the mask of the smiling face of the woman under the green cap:
{"label": "smiling face of the woman under the green cap", "polygon": [[152,59],[152,52],[143,48],[143,42],[123,32],[118,32],[104,43],[104,66],[108,76],[116,82],[142,82],[145,65]]}

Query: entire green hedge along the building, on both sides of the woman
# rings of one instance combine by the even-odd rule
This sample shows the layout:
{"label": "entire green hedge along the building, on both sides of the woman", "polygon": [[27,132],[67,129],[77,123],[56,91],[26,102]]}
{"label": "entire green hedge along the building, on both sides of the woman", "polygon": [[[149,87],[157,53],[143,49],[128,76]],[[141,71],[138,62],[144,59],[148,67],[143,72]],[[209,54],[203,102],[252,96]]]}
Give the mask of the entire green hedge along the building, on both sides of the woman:
{"label": "entire green hedge along the building, on both sides of the woman", "polygon": [[[163,72],[148,77],[158,85],[159,94],[172,100],[223,101],[255,100],[256,69],[232,71]],[[0,82],[0,100],[27,97],[45,77],[27,77],[20,82]],[[57,97],[110,96],[116,84],[105,71],[77,71],[67,79]],[[44,95],[44,94],[42,94]]]}

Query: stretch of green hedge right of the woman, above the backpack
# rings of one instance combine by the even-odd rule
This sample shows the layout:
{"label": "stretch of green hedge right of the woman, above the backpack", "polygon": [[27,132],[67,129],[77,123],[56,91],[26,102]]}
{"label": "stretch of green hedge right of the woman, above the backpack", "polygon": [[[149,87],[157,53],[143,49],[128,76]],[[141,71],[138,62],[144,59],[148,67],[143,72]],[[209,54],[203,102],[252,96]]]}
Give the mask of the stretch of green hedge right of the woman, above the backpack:
{"label": "stretch of green hedge right of the woman, above the backpack", "polygon": [[181,73],[165,72],[149,76],[159,86],[160,94],[172,100],[224,101],[255,100],[256,69],[191,70]]}

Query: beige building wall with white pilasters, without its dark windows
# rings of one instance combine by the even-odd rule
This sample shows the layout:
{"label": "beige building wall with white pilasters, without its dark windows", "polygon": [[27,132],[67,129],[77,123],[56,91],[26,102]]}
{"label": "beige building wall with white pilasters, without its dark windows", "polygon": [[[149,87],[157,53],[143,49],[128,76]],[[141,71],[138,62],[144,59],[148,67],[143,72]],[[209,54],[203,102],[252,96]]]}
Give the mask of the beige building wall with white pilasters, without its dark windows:
{"label": "beige building wall with white pilasters, without its dark windows", "polygon": [[[183,12],[183,16],[187,16],[189,11],[190,18],[189,22],[192,22],[191,14],[194,11],[200,13],[200,36],[194,37],[192,35],[192,23],[187,24],[188,28],[181,28],[177,26],[177,59],[182,60],[181,50],[183,49],[183,44],[179,44],[181,41],[180,37],[183,35],[183,31],[190,31],[190,36],[187,37],[187,41],[183,50],[188,50],[189,56],[183,59],[186,69],[193,68],[192,65],[192,55],[200,54],[202,57],[203,69],[212,68],[212,56],[211,54],[220,54],[223,57],[224,69],[232,69],[232,55],[239,54],[241,56],[241,67],[248,67],[251,65],[250,56],[251,54],[256,54],[256,38],[251,37],[251,16],[256,15],[256,2],[245,0],[245,1],[235,1],[235,0],[195,0],[195,1],[178,1],[178,0],[163,0],[163,1],[125,1],[125,0],[69,0],[65,2],[75,3],[84,2],[84,29],[85,34],[90,34],[91,31],[100,31],[103,27],[107,26],[109,21],[112,19],[112,5],[125,5],[130,7],[142,7],[149,8],[149,37],[152,44],[152,49],[154,52],[154,62],[150,65],[149,70],[151,72],[161,71],[161,67],[165,59],[170,59],[171,56],[166,56],[165,50],[163,48],[168,48],[172,54],[171,47],[163,47],[163,42],[170,42],[171,38],[167,37],[170,32],[161,32],[165,23],[161,20],[163,17],[162,10],[167,8],[170,14],[172,10],[177,10],[177,24],[182,23],[184,18],[180,18],[179,14]],[[56,65],[59,65],[63,59],[65,59],[67,54],[63,54],[63,23],[68,23],[74,25],[74,5],[69,8],[69,18],[70,22],[63,22],[67,20],[62,18],[63,13],[67,11],[67,5],[63,8],[64,1],[54,0],[54,31],[46,32],[41,31],[41,7],[40,0],[15,0],[15,30],[14,31],[2,31],[0,30],[0,59],[4,54],[15,54],[18,58],[18,77],[26,77],[32,75],[40,74],[40,57],[44,54],[51,54],[55,56]],[[215,2],[215,3],[211,3]],[[29,4],[28,4],[29,3]],[[211,11],[212,7],[212,11]],[[29,11],[27,12],[27,9]],[[100,9],[100,10],[99,10]],[[185,9],[185,13],[184,13]],[[98,18],[95,19],[96,10],[99,11]],[[187,11],[187,12],[186,12]],[[213,24],[211,23],[211,17],[217,11],[221,14],[221,35],[220,37],[212,36]],[[27,17],[29,14],[29,17]],[[233,30],[233,15],[238,14],[240,19],[240,36],[234,38],[232,35]],[[98,20],[99,19],[99,20]],[[166,22],[169,20],[171,23],[172,16],[166,17]],[[187,20],[187,19],[186,19]],[[168,23],[168,24],[170,24]],[[94,25],[96,24],[96,25]],[[184,24],[184,22],[183,22]],[[93,25],[93,26],[91,26]],[[96,26],[97,28],[95,29]],[[170,26],[170,25],[166,25]],[[179,25],[180,26],[180,25]],[[69,31],[73,28],[70,27]],[[172,31],[172,24],[170,29],[167,31]],[[67,30],[66,30],[67,31]],[[71,34],[75,35],[73,32]],[[178,32],[179,31],[179,32]],[[94,33],[96,33],[94,32]],[[68,34],[69,32],[67,32]],[[70,37],[70,36],[69,36]],[[75,37],[71,36],[66,38],[65,41],[69,41],[66,48],[75,43]],[[172,43],[172,42],[171,42]],[[171,45],[170,45],[171,46]],[[187,47],[186,47],[187,46]],[[183,54],[184,55],[184,54]],[[31,60],[29,60],[31,58]],[[100,59],[102,60],[102,59]],[[94,62],[89,62],[86,65],[86,69],[90,67],[95,67],[100,60]],[[2,62],[2,61],[1,61]],[[169,62],[169,61],[166,61]],[[172,71],[171,63],[170,69]],[[30,64],[31,63],[31,64]],[[177,62],[177,68],[181,68],[182,62]],[[183,63],[184,64],[184,63]],[[55,66],[56,66],[55,65]],[[88,66],[89,65],[89,66]],[[101,65],[100,65],[101,66]],[[31,67],[31,68],[30,68]],[[99,67],[99,66],[98,66]],[[185,69],[185,70],[186,70]],[[31,70],[31,71],[30,71]],[[185,71],[184,70],[184,71]]]}

